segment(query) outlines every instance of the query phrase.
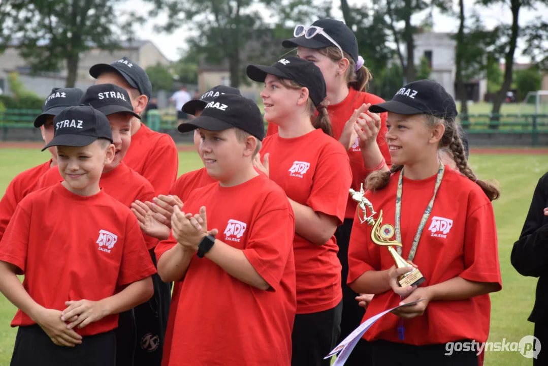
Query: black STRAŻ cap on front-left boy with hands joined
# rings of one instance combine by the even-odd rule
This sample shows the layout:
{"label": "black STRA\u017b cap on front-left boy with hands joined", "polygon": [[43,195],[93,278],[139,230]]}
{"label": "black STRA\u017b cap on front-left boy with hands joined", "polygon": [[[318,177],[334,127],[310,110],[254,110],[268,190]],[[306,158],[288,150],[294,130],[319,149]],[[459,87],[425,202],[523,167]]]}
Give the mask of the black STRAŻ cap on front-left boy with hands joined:
{"label": "black STRA\u017b cap on front-left boy with hands joined", "polygon": [[64,109],[54,117],[53,126],[54,137],[42,151],[52,146],[87,146],[98,138],[106,138],[112,143],[109,120],[89,105]]}

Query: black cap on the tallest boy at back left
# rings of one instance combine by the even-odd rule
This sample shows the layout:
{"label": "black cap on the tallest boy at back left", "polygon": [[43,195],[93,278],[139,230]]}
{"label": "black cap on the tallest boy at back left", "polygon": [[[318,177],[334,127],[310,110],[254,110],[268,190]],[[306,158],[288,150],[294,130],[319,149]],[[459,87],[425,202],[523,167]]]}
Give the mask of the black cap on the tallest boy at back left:
{"label": "black cap on the tallest boy at back left", "polygon": [[98,78],[99,75],[106,71],[114,71],[122,75],[129,85],[135,89],[138,89],[141,94],[145,94],[150,100],[150,95],[152,94],[152,84],[150,83],[149,76],[146,75],[145,70],[143,70],[138,64],[133,63],[132,60],[127,57],[122,57],[110,65],[93,65],[89,69],[89,75],[94,78]]}

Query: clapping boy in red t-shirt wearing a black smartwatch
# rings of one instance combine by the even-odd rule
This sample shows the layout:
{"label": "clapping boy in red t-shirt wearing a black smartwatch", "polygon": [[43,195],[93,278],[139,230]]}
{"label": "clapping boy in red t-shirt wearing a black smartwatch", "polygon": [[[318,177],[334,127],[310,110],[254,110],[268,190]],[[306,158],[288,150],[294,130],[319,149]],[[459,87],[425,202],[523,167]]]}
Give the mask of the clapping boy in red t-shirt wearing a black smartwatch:
{"label": "clapping boy in red t-shirt wearing a black smartwatch", "polygon": [[202,160],[218,182],[189,195],[190,213],[175,206],[173,237],[156,247],[162,279],[181,281],[177,346],[164,358],[169,365],[287,366],[295,222],[283,190],[252,164],[264,138],[261,113],[252,100],[222,94],[179,131],[195,128]]}

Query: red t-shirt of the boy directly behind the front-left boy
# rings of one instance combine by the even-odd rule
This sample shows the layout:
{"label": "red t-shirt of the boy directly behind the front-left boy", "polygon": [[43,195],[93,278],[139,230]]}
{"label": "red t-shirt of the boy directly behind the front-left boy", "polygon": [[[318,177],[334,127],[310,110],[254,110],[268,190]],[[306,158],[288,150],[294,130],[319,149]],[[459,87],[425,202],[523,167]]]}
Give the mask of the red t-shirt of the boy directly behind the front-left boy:
{"label": "red t-shirt of the boy directly behind the front-left boy", "polygon": [[[59,167],[54,166],[39,179],[37,188],[51,187],[62,182]],[[152,185],[140,174],[133,171],[124,162],[121,162],[110,172],[102,173],[99,186],[106,194],[112,196],[126,207],[131,207],[135,200],[141,202],[152,201],[156,197]],[[158,239],[149,237],[145,233],[146,247],[152,249],[158,244]]]}

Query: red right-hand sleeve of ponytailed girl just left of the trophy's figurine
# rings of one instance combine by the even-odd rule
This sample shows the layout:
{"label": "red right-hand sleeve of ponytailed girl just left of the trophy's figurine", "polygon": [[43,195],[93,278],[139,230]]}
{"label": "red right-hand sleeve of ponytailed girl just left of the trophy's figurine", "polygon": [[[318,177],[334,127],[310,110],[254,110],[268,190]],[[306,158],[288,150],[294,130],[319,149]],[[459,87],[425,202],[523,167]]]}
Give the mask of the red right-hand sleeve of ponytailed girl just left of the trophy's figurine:
{"label": "red right-hand sleeve of ponytailed girl just left of the trophy's figurine", "polygon": [[349,157],[341,153],[327,153],[319,156],[312,180],[312,190],[306,205],[316,212],[322,212],[343,223],[348,192],[352,185],[352,170]]}

